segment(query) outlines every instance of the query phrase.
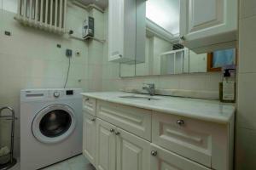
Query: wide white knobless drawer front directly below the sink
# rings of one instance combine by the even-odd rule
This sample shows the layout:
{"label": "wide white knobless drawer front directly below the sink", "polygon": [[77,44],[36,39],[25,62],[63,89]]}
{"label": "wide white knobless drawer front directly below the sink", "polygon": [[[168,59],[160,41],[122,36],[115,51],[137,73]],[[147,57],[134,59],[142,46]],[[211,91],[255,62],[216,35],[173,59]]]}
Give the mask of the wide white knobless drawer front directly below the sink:
{"label": "wide white knobless drawer front directly below the sink", "polygon": [[97,101],[96,116],[151,141],[151,112],[131,106]]}

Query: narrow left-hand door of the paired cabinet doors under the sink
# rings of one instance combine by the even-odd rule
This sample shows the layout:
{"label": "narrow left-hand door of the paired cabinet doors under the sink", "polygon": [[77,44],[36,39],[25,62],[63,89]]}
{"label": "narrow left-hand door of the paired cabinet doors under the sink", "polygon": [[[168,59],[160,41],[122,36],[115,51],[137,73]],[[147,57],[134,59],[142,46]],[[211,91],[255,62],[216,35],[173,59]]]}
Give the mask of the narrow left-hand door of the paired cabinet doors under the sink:
{"label": "narrow left-hand door of the paired cabinet doors under the sink", "polygon": [[116,160],[115,128],[108,122],[96,119],[96,169],[114,170]]}

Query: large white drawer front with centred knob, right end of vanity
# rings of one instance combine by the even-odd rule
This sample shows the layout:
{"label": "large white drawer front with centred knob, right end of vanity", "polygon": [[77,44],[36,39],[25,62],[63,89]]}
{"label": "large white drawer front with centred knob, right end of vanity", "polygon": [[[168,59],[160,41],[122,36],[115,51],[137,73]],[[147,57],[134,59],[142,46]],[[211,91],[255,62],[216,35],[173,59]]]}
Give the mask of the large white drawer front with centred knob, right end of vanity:
{"label": "large white drawer front with centred knob, right end of vanity", "polygon": [[154,112],[152,119],[154,144],[207,167],[228,169],[229,139],[225,125],[159,112]]}

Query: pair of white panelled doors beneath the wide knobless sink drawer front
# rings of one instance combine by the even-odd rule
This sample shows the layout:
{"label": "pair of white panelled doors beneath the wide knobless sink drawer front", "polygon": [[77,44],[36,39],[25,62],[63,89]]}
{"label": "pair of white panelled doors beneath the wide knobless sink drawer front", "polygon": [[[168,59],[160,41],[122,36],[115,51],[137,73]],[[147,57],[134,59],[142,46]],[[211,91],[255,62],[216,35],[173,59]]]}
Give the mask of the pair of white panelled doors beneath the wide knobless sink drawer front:
{"label": "pair of white panelled doors beneath the wide knobless sink drawer front", "polygon": [[148,170],[150,143],[108,122],[97,119],[98,170]]}

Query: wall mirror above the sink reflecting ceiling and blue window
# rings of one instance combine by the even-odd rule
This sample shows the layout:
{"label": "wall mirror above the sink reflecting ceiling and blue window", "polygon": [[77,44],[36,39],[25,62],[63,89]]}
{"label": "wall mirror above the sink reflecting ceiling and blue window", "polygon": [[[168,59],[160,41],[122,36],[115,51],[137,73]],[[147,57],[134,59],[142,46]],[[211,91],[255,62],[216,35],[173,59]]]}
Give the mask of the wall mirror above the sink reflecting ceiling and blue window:
{"label": "wall mirror above the sink reflecting ceiling and blue window", "polygon": [[180,0],[147,0],[143,5],[144,13],[137,12],[137,25],[145,23],[145,30],[140,31],[137,26],[137,34],[145,34],[145,43],[137,41],[137,48],[145,48],[144,59],[142,62],[142,55],[137,55],[135,63],[120,64],[120,77],[203,73],[236,65],[234,48],[195,54],[178,43]]}

